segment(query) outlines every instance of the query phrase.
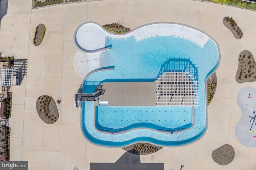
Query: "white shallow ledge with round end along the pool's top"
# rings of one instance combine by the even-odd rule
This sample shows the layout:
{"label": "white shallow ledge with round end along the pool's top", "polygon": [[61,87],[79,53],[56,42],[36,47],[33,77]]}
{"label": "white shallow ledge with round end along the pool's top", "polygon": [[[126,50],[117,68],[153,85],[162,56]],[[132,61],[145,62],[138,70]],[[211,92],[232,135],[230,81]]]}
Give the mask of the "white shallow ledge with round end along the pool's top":
{"label": "white shallow ledge with round end along the pool's top", "polygon": [[98,23],[86,22],[78,27],[74,35],[74,41],[81,51],[94,52],[104,49],[106,46],[106,37],[113,39],[126,39],[134,36],[136,41],[141,41],[146,38],[165,35],[175,36],[188,39],[203,47],[209,37],[204,33],[192,29],[185,25],[174,23],[152,23],[141,25],[134,30],[124,34],[114,34],[105,30]]}

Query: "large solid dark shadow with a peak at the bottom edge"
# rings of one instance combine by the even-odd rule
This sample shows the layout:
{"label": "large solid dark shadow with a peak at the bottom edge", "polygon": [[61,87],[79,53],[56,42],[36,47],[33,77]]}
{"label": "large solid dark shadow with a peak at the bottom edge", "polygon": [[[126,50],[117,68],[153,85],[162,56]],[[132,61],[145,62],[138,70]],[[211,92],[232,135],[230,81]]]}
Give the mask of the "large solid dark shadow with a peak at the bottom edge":
{"label": "large solid dark shadow with a peak at the bottom edge", "polygon": [[115,163],[90,163],[90,170],[164,170],[164,163],[141,163],[140,155],[125,152]]}

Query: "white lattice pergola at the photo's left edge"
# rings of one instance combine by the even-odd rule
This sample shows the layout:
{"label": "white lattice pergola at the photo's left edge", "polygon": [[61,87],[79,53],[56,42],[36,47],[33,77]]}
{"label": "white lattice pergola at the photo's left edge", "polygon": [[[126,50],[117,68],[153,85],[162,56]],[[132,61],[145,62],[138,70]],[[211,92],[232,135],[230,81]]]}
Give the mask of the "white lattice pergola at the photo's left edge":
{"label": "white lattice pergola at the photo's left edge", "polygon": [[0,86],[19,86],[19,73],[20,70],[14,68],[0,68]]}

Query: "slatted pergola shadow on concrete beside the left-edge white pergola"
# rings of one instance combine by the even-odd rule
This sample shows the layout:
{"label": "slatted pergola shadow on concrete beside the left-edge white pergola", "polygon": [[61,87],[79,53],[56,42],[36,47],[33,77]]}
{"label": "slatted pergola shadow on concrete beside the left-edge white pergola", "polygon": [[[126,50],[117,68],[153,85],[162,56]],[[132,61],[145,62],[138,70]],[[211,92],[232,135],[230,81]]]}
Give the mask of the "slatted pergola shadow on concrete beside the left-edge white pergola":
{"label": "slatted pergola shadow on concrete beside the left-edge white pergola", "polygon": [[24,76],[27,74],[28,59],[14,59],[13,68],[16,70],[20,70],[18,84],[21,84]]}

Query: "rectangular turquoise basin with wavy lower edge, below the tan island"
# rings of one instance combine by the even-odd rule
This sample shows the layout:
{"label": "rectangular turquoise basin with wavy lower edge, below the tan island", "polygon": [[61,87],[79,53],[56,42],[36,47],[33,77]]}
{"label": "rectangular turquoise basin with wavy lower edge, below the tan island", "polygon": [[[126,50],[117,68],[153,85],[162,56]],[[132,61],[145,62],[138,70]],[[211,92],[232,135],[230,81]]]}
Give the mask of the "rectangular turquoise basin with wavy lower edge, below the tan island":
{"label": "rectangular turquoise basin with wavy lower edge, below the tan island", "polygon": [[95,127],[120,133],[134,128],[177,132],[192,127],[192,107],[96,106]]}

